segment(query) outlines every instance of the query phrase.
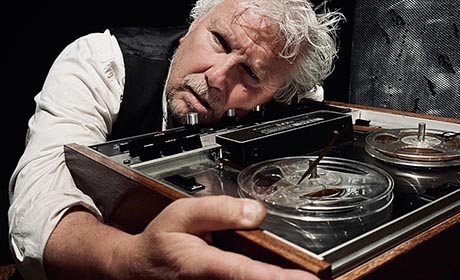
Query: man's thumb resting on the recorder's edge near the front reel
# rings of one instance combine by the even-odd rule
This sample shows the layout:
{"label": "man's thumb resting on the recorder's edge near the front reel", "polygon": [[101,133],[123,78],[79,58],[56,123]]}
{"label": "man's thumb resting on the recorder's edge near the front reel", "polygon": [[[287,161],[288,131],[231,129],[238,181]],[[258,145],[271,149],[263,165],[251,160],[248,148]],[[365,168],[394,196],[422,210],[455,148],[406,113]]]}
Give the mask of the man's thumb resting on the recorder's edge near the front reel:
{"label": "man's thumb resting on the recorder's edge near the front reel", "polygon": [[265,207],[253,199],[206,196],[174,201],[152,222],[152,230],[200,235],[210,231],[255,228],[265,218]]}

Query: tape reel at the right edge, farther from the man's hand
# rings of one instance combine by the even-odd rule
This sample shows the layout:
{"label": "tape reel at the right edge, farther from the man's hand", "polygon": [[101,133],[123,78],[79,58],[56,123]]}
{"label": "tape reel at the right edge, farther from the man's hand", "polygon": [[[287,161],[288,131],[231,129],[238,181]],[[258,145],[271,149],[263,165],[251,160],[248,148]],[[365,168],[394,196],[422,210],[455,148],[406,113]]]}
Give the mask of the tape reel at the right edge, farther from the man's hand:
{"label": "tape reel at the right edge, farther from the man's hand", "polygon": [[412,167],[460,165],[460,133],[425,129],[384,129],[366,137],[366,152],[382,161]]}

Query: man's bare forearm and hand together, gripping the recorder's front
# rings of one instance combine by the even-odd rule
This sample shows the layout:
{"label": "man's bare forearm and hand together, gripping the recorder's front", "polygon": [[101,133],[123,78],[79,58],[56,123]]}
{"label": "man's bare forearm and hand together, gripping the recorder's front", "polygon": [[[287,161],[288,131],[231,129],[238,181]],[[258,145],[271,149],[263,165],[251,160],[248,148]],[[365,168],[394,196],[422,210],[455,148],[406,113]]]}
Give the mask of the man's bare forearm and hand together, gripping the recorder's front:
{"label": "man's bare forearm and hand together, gripping the recorder's front", "polygon": [[45,271],[50,279],[317,279],[206,242],[211,231],[255,228],[264,217],[264,207],[254,200],[185,198],[130,235],[74,208],[47,243]]}

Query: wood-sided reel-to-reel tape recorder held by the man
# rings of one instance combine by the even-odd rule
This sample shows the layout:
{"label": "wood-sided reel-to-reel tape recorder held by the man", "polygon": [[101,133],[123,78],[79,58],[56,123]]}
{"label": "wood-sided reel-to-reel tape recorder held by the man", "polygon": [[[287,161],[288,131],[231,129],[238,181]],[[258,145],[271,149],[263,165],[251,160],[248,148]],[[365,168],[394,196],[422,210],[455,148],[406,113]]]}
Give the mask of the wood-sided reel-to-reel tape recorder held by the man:
{"label": "wood-sided reel-to-reel tape recorder held by the man", "polygon": [[[256,233],[238,232],[238,242],[275,263],[340,277],[448,218],[460,223],[460,121],[345,105],[218,130],[67,145],[67,164],[107,221],[123,228],[137,220],[142,229],[151,217],[139,216],[165,200],[258,199],[267,218]],[[363,120],[370,125],[356,125]]]}

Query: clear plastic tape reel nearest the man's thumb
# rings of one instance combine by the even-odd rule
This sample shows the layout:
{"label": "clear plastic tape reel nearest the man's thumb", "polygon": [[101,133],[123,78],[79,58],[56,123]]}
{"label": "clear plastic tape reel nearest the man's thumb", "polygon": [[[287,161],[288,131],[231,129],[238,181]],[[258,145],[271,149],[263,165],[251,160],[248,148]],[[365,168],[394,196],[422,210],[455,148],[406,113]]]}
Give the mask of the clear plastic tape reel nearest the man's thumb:
{"label": "clear plastic tape reel nearest the man's thumb", "polygon": [[[346,220],[371,214],[391,201],[393,179],[382,169],[324,157],[315,176],[297,183],[315,157],[298,156],[253,164],[238,175],[239,193],[263,201],[279,216]],[[367,212],[369,211],[369,213]]]}

